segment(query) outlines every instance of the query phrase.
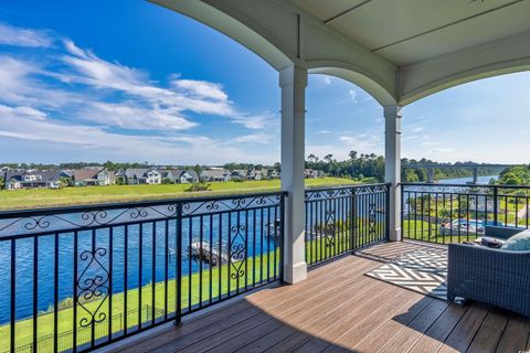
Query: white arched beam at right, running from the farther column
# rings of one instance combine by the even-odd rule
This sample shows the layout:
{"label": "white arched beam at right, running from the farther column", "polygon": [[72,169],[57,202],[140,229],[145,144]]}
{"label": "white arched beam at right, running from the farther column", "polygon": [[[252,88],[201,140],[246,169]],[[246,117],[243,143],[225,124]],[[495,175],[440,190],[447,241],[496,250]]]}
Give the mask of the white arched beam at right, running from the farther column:
{"label": "white arched beam at right, running from the farther column", "polygon": [[468,82],[530,69],[530,32],[400,67],[400,105]]}

